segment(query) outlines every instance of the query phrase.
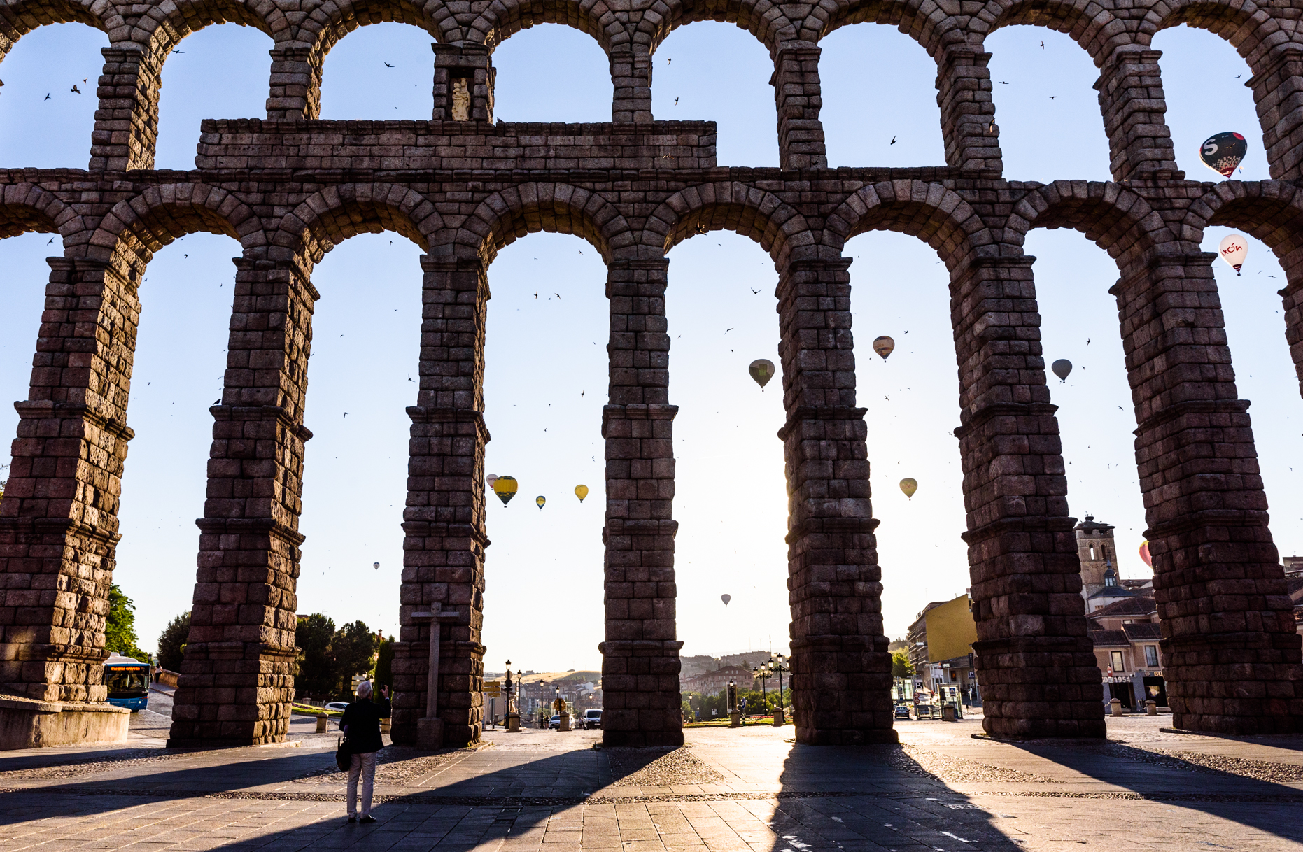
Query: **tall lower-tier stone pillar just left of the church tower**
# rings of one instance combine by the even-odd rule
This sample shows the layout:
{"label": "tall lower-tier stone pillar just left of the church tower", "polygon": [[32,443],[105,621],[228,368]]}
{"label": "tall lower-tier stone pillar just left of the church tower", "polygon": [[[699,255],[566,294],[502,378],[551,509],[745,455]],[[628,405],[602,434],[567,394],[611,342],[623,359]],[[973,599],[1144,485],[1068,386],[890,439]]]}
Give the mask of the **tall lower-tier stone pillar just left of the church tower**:
{"label": "tall lower-tier stone pillar just left of the church tower", "polygon": [[1033,261],[971,257],[951,274],[982,727],[995,736],[1102,737]]}

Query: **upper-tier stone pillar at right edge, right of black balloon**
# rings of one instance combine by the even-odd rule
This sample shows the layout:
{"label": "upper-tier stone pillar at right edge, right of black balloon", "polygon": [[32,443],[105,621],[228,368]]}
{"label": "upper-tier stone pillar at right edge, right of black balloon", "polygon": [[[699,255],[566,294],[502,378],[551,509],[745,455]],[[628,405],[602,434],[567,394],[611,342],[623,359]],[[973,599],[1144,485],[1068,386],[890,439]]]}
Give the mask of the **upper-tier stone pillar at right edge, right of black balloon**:
{"label": "upper-tier stone pillar at right edge, right of black balloon", "polygon": [[1303,177],[1303,47],[1281,44],[1255,64],[1246,82],[1253,90],[1257,120],[1263,125],[1263,149],[1272,177],[1296,181]]}

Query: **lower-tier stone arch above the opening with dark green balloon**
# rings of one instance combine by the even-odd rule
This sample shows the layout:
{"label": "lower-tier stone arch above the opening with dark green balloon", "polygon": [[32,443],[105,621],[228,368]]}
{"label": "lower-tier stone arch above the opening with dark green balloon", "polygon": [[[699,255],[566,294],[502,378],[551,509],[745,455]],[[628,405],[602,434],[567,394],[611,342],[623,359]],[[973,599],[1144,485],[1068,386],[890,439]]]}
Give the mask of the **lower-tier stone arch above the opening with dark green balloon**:
{"label": "lower-tier stone arch above the opening with dark green balloon", "polygon": [[698,228],[736,231],[751,237],[782,264],[796,250],[816,245],[813,231],[796,208],[756,186],[701,184],[666,198],[648,218],[644,240],[662,254]]}

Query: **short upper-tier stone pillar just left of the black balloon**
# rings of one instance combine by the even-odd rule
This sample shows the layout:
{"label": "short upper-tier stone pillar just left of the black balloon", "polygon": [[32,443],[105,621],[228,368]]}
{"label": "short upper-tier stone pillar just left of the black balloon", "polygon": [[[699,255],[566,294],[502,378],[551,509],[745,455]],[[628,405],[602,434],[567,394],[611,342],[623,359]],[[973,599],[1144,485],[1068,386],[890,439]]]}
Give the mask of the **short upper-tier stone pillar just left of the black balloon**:
{"label": "short upper-tier stone pillar just left of the black balloon", "polygon": [[1109,135],[1113,180],[1182,180],[1164,115],[1167,102],[1158,72],[1161,51],[1127,46],[1100,68],[1095,89]]}

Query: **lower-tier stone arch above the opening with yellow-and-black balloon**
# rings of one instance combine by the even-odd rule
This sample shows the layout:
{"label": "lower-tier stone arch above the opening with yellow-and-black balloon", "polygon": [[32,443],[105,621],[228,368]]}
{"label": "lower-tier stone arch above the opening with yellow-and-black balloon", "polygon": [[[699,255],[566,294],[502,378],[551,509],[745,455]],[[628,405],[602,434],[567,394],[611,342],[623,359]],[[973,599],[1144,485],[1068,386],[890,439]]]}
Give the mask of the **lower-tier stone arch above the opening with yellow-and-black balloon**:
{"label": "lower-tier stone arch above the opening with yellow-and-black balloon", "polygon": [[607,263],[636,251],[624,216],[597,193],[568,184],[524,184],[496,192],[440,234],[438,244],[493,262],[503,246],[539,231],[582,237]]}

